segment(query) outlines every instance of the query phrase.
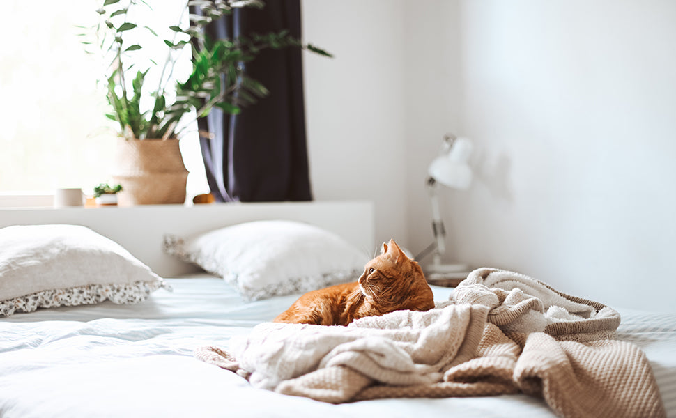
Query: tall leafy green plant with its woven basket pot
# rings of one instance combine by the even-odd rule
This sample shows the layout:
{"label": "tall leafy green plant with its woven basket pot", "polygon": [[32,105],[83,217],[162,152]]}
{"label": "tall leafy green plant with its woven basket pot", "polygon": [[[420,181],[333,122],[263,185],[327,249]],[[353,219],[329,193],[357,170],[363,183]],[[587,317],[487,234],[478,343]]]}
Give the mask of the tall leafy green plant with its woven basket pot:
{"label": "tall leafy green plant with its woven basket pot", "polygon": [[[261,7],[261,1],[191,0],[187,6],[199,6],[203,15],[190,15],[189,23],[183,24],[183,16],[179,17],[169,28],[171,39],[161,39],[151,27],[134,22],[135,14],[130,13],[149,7],[145,1],[102,0],[96,10],[99,22],[91,28],[93,38],[83,42],[88,52],[98,52],[105,61],[105,77],[100,82],[111,106],[106,116],[116,121],[121,137],[112,177],[125,189],[121,194],[125,204],[185,201],[187,170],[178,139],[190,125],[187,119],[206,116],[213,107],[237,114],[268,93],[265,86],[247,77],[240,63],[254,60],[268,48],[301,47],[330,56],[288,31],[217,40],[203,35],[203,26],[232,13],[233,8]],[[139,64],[134,60],[145,50],[132,36],[138,31],[149,33],[167,49],[164,62]],[[172,76],[184,48],[192,50],[192,72],[187,79],[176,81]],[[159,77],[148,85],[146,79],[153,70]]]}

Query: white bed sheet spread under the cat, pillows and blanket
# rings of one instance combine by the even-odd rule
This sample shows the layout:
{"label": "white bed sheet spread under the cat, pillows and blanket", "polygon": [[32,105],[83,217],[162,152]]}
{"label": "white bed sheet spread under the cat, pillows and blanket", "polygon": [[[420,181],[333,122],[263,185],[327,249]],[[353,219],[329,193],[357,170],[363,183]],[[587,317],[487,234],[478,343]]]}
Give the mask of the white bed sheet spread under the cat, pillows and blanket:
{"label": "white bed sheet spread under the cat, pillows and blanket", "polygon": [[[192,357],[199,346],[272,320],[298,297],[243,302],[222,279],[169,279],[141,304],[110,302],[0,318],[0,417],[553,417],[530,396],[383,399],[331,405],[253,389]],[[452,289],[433,287],[436,300]],[[676,332],[645,329],[628,312],[620,335],[645,350],[660,385],[676,392]],[[643,319],[641,319],[643,318]],[[664,321],[673,317],[662,318]],[[668,415],[676,405],[665,400]]]}

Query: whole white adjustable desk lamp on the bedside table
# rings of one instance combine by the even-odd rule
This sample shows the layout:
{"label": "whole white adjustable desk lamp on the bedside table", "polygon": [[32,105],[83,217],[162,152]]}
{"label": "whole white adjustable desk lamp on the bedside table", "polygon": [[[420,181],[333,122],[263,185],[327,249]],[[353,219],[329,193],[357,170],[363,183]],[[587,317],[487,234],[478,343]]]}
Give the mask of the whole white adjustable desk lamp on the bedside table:
{"label": "whole white adjustable desk lamp on the bedside table", "polygon": [[[438,157],[432,160],[427,169],[427,192],[432,207],[432,232],[434,242],[415,258],[421,260],[433,252],[432,263],[428,265],[427,277],[430,280],[448,279],[466,274],[468,267],[462,264],[442,264],[441,257],[446,252],[446,231],[439,209],[438,184],[452,189],[466,190],[472,181],[472,170],[468,165],[472,153],[472,142],[453,134],[445,134],[443,148]],[[464,276],[462,277],[464,278]]]}

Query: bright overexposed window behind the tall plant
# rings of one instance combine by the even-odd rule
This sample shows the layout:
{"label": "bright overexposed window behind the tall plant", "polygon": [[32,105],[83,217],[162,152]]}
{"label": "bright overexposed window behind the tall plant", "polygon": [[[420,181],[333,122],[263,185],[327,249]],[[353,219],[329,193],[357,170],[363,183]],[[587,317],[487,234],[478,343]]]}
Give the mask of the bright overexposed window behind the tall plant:
{"label": "bright overexposed window behind the tall plant", "polygon": [[[185,0],[146,0],[147,25],[169,31]],[[0,14],[0,192],[51,192],[110,180],[116,126],[105,118],[97,60],[84,52],[82,29],[99,1],[3,1]],[[186,16],[187,17],[187,13]],[[158,30],[160,37],[164,36]],[[168,37],[168,35],[167,35]],[[190,70],[190,54],[183,54]],[[187,67],[186,67],[187,66]],[[181,138],[190,171],[187,194],[208,192],[197,124]]]}

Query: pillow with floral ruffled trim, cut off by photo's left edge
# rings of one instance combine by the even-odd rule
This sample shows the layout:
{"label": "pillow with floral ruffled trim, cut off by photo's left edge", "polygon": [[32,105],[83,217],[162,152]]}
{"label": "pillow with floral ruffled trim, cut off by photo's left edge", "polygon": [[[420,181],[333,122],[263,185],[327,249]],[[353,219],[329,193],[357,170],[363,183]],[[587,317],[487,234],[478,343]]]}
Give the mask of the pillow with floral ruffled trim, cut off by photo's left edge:
{"label": "pillow with floral ruffled trim, cut off by photo's left edge", "polygon": [[85,226],[0,229],[0,316],[107,299],[136,303],[162,286],[147,265]]}

